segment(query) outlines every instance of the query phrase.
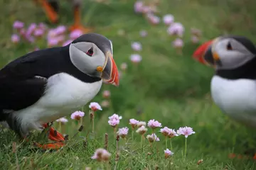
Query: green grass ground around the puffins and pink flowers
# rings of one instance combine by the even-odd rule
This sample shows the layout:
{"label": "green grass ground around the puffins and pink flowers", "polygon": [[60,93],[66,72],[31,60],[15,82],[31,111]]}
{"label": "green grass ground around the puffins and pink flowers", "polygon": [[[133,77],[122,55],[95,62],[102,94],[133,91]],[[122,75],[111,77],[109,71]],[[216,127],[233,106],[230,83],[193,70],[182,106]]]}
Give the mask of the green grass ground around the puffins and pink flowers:
{"label": "green grass ground around the puffins and pink flowers", "polygon": [[[87,136],[90,132],[87,105],[83,108],[86,113],[84,130],[57,152],[38,150],[31,144],[20,142],[14,132],[4,129],[0,135],[1,169],[85,169],[87,166],[97,169],[100,164],[90,157],[95,149],[104,147],[105,133],[109,135],[108,150],[112,153],[110,166],[113,169],[113,128],[107,124],[108,116],[113,113],[123,116],[120,128],[130,128],[129,118],[146,122],[154,118],[169,128],[188,125],[196,131],[195,135],[188,137],[186,159],[183,159],[183,136],[173,139],[175,154],[170,159],[164,159],[164,136],[157,132],[160,142],[156,142],[151,149],[145,141],[142,152],[140,136],[134,133],[132,141],[129,131],[128,144],[119,141],[124,149],[121,149],[117,169],[256,169],[252,159],[228,158],[231,152],[243,154],[247,149],[255,149],[256,134],[254,130],[230,120],[215,106],[209,94],[213,70],[191,58],[198,45],[190,41],[190,28],[196,27],[203,31],[201,42],[225,33],[245,35],[256,42],[253,36],[256,26],[255,2],[162,0],[159,16],[172,13],[176,21],[186,28],[182,56],[176,55],[171,47],[173,38],[166,36],[166,26],[162,23],[159,26],[149,25],[143,16],[134,14],[133,4],[134,1],[112,0],[109,6],[94,1],[85,2],[83,6],[83,22],[112,40],[117,65],[122,62],[128,64],[119,88],[102,86],[102,90],[111,91],[112,105],[95,115],[96,138]],[[0,6],[2,13],[6,14],[0,16],[0,64],[4,66],[33,49],[33,45],[11,43],[12,23],[21,20],[29,24],[45,21],[46,18],[41,8],[35,7],[32,1],[0,0]],[[65,2],[60,13],[63,14],[61,23],[72,23],[72,11]],[[124,36],[117,35],[120,29],[125,31]],[[146,38],[139,37],[139,30],[142,29],[149,32]],[[140,54],[143,60],[138,67],[129,61],[129,55],[133,53],[130,47],[132,41],[142,42]],[[101,94],[93,101],[101,102]],[[54,126],[58,129],[57,123]],[[64,127],[63,132],[70,137],[78,130],[78,125],[72,120]],[[151,133],[151,130],[147,133]],[[38,138],[36,135],[34,137]],[[15,152],[12,142],[17,143]],[[200,159],[203,159],[203,163],[198,165]]]}

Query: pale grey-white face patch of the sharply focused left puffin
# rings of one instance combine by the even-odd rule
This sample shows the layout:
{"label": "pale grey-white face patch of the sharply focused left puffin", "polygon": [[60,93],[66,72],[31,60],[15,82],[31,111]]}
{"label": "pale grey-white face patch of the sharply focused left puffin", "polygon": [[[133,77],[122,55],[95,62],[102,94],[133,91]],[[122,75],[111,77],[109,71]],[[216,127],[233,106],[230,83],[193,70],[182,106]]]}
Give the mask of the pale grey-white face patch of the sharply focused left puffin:
{"label": "pale grey-white face patch of the sharply focused left puffin", "polygon": [[70,60],[81,72],[92,77],[100,77],[97,67],[105,67],[107,57],[102,50],[92,42],[71,43],[69,47]]}

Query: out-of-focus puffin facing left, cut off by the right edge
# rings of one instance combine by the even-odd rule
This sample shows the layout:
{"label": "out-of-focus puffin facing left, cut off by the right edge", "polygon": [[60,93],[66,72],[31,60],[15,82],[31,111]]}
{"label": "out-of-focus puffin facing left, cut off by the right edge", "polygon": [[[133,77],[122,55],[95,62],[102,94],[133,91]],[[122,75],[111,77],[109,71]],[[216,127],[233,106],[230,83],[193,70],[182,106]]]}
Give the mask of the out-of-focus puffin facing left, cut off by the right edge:
{"label": "out-of-focus puffin facing left, cut off by the right edge", "polygon": [[256,48],[245,37],[227,35],[210,40],[193,57],[215,67],[213,101],[231,118],[256,128]]}

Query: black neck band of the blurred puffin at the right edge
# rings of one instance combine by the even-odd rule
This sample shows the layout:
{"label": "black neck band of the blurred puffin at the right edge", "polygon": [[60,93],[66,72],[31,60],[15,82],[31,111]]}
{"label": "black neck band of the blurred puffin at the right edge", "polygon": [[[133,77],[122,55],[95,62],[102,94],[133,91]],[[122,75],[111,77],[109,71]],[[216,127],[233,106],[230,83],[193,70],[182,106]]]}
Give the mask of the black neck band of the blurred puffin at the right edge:
{"label": "black neck band of the blurred puffin at the right edge", "polygon": [[225,79],[256,79],[256,57],[236,69],[220,69],[215,75]]}

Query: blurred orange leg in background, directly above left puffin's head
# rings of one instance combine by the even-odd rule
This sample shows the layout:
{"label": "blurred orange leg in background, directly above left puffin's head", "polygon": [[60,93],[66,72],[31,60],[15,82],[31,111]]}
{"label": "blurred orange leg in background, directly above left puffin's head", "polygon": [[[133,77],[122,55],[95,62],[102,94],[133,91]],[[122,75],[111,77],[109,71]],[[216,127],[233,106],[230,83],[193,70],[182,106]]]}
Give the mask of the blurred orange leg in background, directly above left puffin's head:
{"label": "blurred orange leg in background, directly above left puffin's head", "polygon": [[79,6],[74,7],[74,20],[73,26],[70,26],[70,31],[82,30],[82,33],[88,33],[92,30],[92,28],[82,26]]}

